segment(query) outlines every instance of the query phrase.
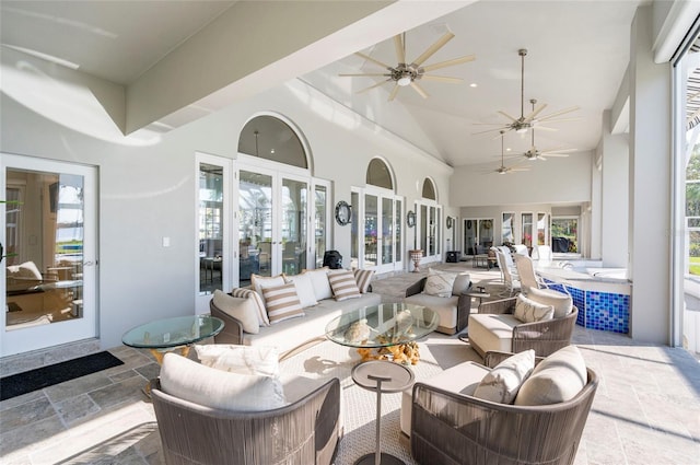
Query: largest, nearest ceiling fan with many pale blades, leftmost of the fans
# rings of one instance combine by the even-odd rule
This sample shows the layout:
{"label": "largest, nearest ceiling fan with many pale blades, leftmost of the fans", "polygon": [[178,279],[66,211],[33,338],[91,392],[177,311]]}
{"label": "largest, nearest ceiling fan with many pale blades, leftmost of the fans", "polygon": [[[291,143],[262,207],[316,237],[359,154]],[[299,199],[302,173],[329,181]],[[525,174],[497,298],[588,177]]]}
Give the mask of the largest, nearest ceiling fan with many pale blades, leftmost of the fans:
{"label": "largest, nearest ceiling fan with many pale blades, leftmost of the fans", "polygon": [[459,78],[448,78],[444,75],[433,75],[427,74],[428,72],[435,71],[438,69],[447,68],[455,65],[466,63],[467,61],[472,61],[476,57],[474,55],[467,55],[459,58],[453,58],[446,61],[440,61],[438,63],[422,66],[423,62],[433,56],[438,50],[440,50],[445,44],[447,44],[455,35],[447,31],[441,38],[439,38],[433,45],[428,47],[425,51],[423,51],[418,58],[416,58],[410,63],[406,62],[406,33],[398,34],[394,36],[394,48],[396,49],[396,59],[398,60],[398,65],[390,66],[383,61],[380,61],[375,58],[370,57],[369,55],[362,54],[360,51],[355,51],[355,55],[364,58],[368,61],[372,61],[375,65],[385,68],[387,72],[381,73],[354,73],[354,74],[338,74],[341,77],[384,77],[387,78],[377,84],[371,85],[366,89],[359,91],[358,93],[366,92],[371,89],[378,88],[380,85],[386,83],[394,83],[394,89],[389,93],[388,101],[392,102],[398,91],[401,88],[410,85],[420,96],[423,98],[428,98],[428,93],[418,84],[417,81],[436,81],[436,82],[447,82],[452,84],[457,84],[463,82]]}

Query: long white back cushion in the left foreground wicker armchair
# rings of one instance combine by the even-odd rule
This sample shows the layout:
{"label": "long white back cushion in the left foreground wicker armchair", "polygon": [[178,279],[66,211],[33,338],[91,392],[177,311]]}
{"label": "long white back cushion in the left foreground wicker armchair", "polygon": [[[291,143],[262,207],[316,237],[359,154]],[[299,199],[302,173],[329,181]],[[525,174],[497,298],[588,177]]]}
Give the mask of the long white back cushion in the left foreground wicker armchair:
{"label": "long white back cushion in the left foreground wicker armchair", "polygon": [[161,367],[165,394],[209,408],[260,411],[287,405],[279,379],[226,373],[168,352]]}

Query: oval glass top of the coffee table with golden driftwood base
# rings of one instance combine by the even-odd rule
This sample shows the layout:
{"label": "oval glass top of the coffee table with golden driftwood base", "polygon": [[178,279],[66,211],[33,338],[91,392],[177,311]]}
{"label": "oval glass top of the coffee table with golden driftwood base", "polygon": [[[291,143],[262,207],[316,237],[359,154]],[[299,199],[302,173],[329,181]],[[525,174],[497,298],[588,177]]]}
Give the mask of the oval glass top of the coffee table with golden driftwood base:
{"label": "oval glass top of the coffee table with golden driftwood base", "polygon": [[440,318],[432,310],[382,303],[346,312],[326,325],[326,337],[342,346],[377,348],[408,344],[429,335]]}

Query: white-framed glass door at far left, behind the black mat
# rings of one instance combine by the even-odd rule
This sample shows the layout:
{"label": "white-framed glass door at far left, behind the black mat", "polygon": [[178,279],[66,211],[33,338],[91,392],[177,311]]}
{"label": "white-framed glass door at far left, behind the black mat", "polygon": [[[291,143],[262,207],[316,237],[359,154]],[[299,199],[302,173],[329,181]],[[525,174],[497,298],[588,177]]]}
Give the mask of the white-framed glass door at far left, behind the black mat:
{"label": "white-framed glass door at far left, behind the black mat", "polygon": [[0,356],[96,337],[96,170],[3,153],[0,171]]}

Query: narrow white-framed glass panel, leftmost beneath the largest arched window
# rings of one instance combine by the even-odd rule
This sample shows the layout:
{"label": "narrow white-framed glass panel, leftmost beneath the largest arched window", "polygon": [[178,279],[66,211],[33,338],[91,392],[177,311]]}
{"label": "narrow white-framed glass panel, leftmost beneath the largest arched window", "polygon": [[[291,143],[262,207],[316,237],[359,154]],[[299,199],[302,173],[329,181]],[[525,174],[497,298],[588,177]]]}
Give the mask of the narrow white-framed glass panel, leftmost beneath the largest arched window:
{"label": "narrow white-framed glass panel, leftmost beneath the largest arched window", "polygon": [[197,154],[197,277],[196,312],[209,312],[215,289],[231,289],[234,281],[231,255],[231,170],[221,156]]}

